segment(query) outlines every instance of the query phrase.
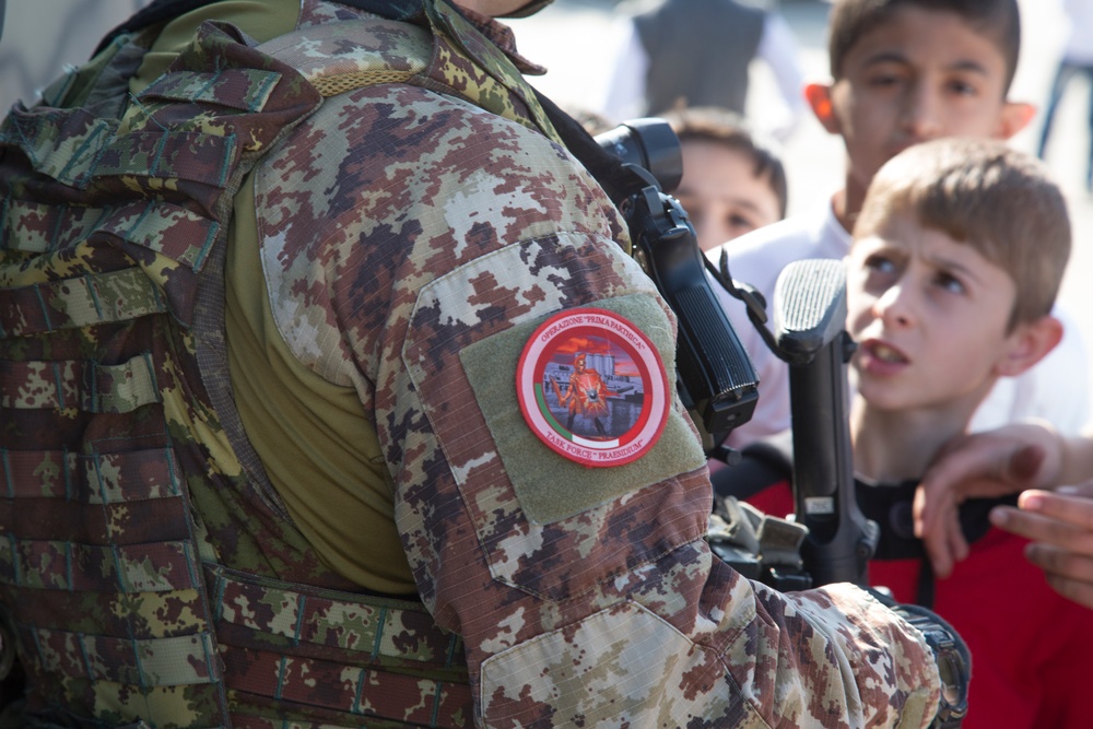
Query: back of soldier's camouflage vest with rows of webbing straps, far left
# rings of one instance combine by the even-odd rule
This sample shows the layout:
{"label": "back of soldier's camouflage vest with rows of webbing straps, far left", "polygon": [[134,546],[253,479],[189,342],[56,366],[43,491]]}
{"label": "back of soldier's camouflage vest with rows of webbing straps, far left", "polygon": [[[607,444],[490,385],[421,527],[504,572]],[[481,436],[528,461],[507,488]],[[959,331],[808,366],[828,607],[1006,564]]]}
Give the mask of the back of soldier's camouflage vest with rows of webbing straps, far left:
{"label": "back of soldier's camouflage vest with rows of webbing straps, far left", "polygon": [[0,129],[0,593],[28,721],[231,724],[201,571],[224,536],[190,490],[261,502],[186,425],[218,428],[191,327],[243,176],[320,99],[211,26],[179,60],[125,119]]}

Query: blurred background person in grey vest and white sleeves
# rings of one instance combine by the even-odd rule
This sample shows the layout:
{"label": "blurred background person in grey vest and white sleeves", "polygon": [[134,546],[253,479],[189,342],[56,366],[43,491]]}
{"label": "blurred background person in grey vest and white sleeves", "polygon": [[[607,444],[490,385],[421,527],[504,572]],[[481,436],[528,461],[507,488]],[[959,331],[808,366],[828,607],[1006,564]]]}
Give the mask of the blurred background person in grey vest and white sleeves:
{"label": "blurred background person in grey vest and white sleeves", "polygon": [[744,116],[754,59],[773,71],[785,105],[780,119],[764,119],[766,130],[785,139],[803,116],[797,39],[776,10],[737,0],[626,0],[615,15],[607,116],[659,116],[681,105]]}

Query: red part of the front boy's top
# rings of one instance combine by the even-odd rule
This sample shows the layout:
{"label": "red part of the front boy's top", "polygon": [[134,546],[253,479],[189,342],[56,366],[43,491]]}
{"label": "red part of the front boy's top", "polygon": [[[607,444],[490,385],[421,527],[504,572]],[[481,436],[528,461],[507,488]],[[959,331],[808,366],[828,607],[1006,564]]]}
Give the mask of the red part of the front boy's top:
{"label": "red part of the front boy's top", "polygon": [[[748,502],[774,515],[794,510],[786,482]],[[972,651],[963,728],[1091,729],[1093,701],[1085,691],[1093,678],[1093,610],[1051,590],[1024,558],[1025,543],[989,528],[951,577],[933,580],[931,609]],[[900,602],[916,602],[924,564],[920,557],[873,560],[869,581]]]}

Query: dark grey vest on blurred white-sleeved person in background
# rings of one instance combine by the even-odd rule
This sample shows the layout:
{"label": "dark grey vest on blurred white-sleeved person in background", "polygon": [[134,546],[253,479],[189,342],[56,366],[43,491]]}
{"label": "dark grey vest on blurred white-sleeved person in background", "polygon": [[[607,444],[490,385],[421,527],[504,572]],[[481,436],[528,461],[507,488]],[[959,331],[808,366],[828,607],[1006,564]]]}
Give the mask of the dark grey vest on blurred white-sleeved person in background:
{"label": "dark grey vest on blurred white-sleeved person in background", "polygon": [[668,0],[636,15],[634,26],[650,60],[648,113],[683,102],[743,114],[748,67],[764,23],[762,9],[722,0]]}

